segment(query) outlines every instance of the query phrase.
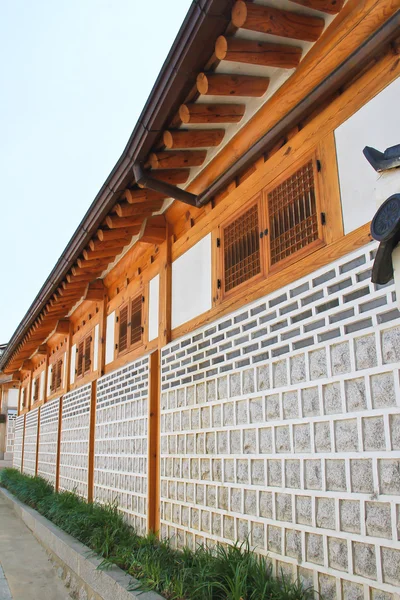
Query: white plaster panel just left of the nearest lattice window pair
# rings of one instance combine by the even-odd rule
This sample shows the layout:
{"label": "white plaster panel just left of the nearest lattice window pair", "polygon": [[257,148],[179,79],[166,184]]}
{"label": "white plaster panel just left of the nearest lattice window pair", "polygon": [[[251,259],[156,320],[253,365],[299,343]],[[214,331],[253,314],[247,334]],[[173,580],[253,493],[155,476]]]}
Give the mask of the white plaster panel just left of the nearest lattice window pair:
{"label": "white plaster panel just left of the nearest lattice window pair", "polygon": [[211,234],[172,263],[172,328],[211,308]]}

